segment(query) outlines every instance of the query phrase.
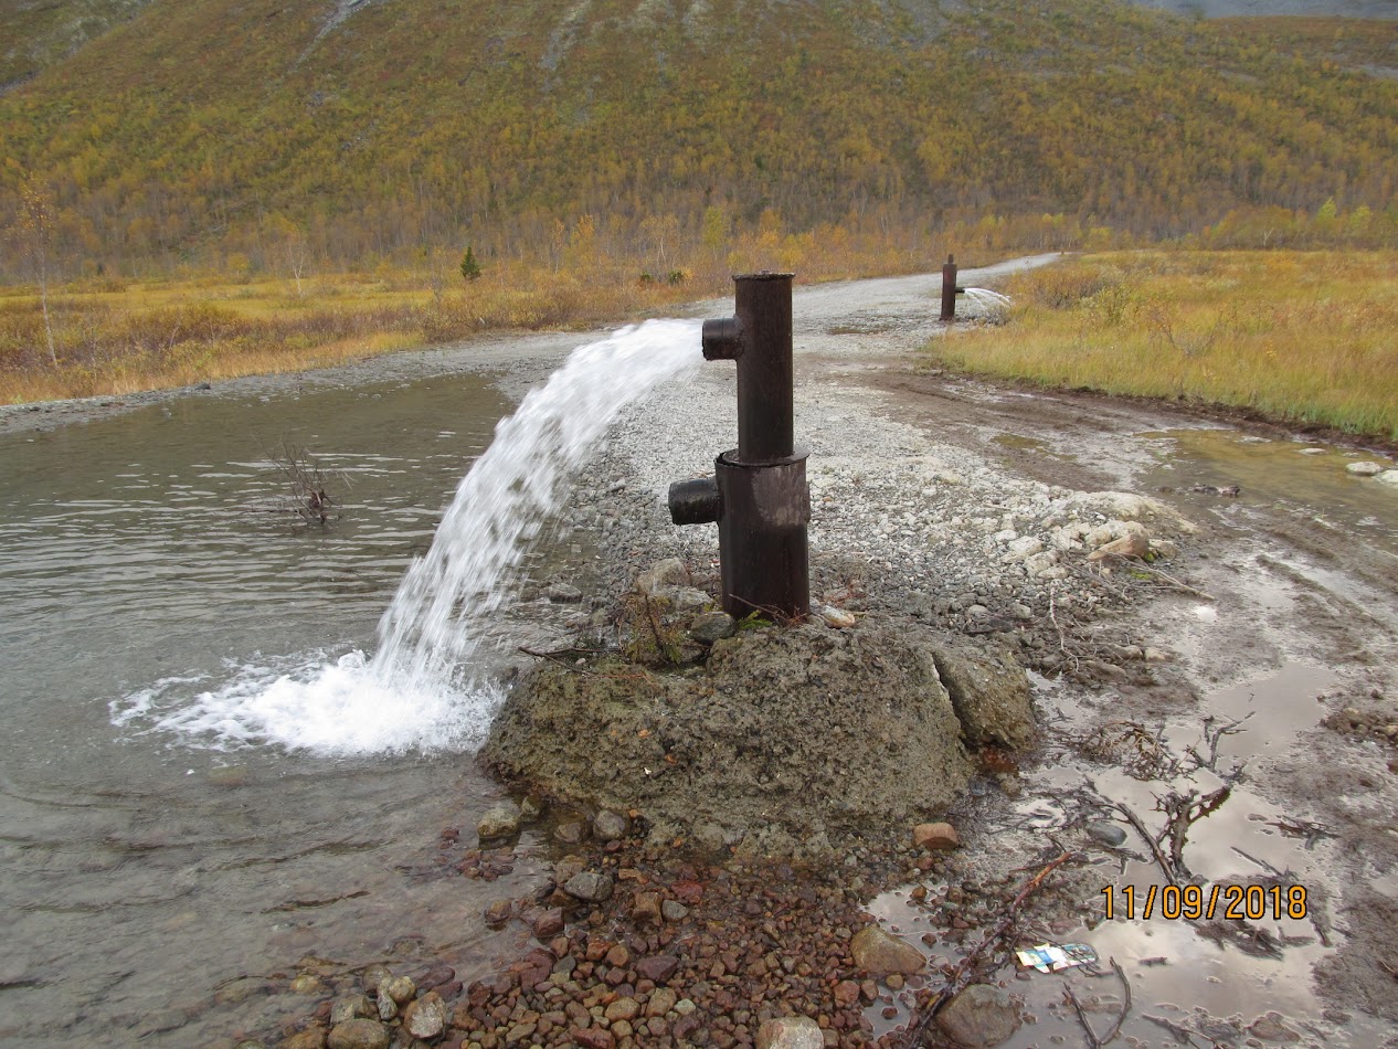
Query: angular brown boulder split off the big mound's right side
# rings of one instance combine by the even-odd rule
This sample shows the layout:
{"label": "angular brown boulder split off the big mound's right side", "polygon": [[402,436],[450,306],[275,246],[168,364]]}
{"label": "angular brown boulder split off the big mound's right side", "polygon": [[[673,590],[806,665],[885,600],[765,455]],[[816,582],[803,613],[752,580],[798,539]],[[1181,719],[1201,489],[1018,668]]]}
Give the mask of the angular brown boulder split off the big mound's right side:
{"label": "angular brown boulder split off the big mound's right side", "polygon": [[1000,646],[932,648],[937,674],[972,747],[1025,750],[1036,737],[1029,676]]}

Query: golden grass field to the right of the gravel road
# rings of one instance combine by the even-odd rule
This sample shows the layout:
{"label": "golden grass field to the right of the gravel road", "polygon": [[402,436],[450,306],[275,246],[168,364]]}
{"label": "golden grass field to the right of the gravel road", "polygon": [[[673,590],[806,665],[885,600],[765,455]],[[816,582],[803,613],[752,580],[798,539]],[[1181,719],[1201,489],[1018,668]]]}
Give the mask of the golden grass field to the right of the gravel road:
{"label": "golden grass field to the right of the gravel road", "polygon": [[1398,439],[1398,253],[1095,255],[1018,277],[944,364]]}

